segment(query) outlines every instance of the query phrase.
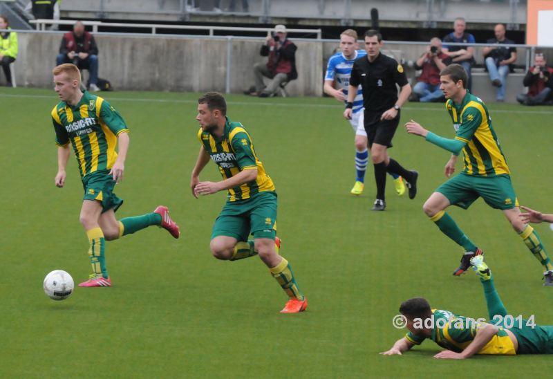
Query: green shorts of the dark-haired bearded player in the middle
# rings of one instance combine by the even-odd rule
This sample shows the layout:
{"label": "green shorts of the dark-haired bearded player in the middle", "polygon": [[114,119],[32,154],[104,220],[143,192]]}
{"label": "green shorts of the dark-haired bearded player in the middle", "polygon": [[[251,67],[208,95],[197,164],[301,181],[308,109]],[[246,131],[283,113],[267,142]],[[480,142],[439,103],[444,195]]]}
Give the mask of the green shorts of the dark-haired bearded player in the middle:
{"label": "green shorts of the dark-haired bearded player in the middle", "polygon": [[244,201],[227,201],[213,225],[212,239],[218,236],[247,241],[277,236],[277,192],[264,191]]}

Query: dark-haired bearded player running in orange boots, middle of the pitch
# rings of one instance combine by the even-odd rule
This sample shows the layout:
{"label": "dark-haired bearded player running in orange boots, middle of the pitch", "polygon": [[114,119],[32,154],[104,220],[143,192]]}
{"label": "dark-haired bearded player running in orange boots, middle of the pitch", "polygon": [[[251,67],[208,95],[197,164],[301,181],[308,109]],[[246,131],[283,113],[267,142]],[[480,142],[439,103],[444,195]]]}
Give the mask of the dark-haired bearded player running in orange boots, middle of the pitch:
{"label": "dark-haired bearded player running in orange boots, middle of the pitch", "polygon": [[[237,261],[258,255],[288,295],[281,313],[299,313],[307,299],[298,288],[288,261],[279,255],[277,192],[256,156],[250,134],[227,117],[223,95],[209,92],[198,99],[200,154],[190,187],[196,198],[228,191],[228,200],[215,220],[209,247],[217,259]],[[200,182],[200,172],[212,159],[223,181]],[[253,234],[254,239],[248,240]]]}

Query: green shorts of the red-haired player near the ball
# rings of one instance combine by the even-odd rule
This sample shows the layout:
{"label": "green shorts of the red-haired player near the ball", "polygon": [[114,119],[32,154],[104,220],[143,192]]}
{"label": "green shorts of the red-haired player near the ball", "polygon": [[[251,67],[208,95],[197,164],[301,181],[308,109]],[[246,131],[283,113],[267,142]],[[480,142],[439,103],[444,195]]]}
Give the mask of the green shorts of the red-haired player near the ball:
{"label": "green shorts of the red-haired player near the ball", "polygon": [[86,175],[82,180],[83,200],[97,200],[102,203],[102,213],[111,209],[117,211],[123,201],[113,193],[115,181],[109,171],[102,170]]}

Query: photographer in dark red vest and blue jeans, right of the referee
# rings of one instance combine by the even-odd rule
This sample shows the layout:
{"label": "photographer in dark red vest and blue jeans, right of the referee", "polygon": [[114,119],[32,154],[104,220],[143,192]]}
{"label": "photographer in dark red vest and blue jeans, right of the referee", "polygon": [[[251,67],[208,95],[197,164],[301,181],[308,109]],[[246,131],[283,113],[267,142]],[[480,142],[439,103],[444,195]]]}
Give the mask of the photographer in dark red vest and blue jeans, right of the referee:
{"label": "photographer in dark red vest and blue jeans, right of the referee", "polygon": [[422,70],[413,93],[420,102],[445,100],[440,89],[440,71],[451,63],[451,58],[442,52],[442,41],[438,37],[430,40],[427,50],[415,62],[415,69]]}

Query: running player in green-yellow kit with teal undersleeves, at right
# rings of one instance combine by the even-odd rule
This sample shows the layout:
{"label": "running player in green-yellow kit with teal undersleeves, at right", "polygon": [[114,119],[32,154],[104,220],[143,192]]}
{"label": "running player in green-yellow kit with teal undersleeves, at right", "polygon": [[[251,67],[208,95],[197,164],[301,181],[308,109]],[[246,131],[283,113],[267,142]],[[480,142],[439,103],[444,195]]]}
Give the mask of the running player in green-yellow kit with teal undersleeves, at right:
{"label": "running player in green-yellow kit with teal undersleeves, at right", "polygon": [[507,161],[499,145],[489,111],[480,98],[467,91],[467,73],[459,64],[450,64],[440,73],[440,89],[444,92],[446,109],[453,121],[456,136],[443,138],[424,129],[411,120],[405,124],[408,133],[424,137],[427,141],[451,151],[445,165],[449,178],[455,171],[458,155],[465,156],[465,169],[440,185],[423,205],[424,213],[440,230],[465,249],[460,266],[453,275],[461,275],[470,266],[470,259],[482,254],[482,250],[467,237],[445,212],[449,205],[467,209],[479,197],[491,207],[502,210],[527,248],[543,266],[545,286],[553,286],[553,264],[537,232],[521,221],[518,200],[511,182]]}

